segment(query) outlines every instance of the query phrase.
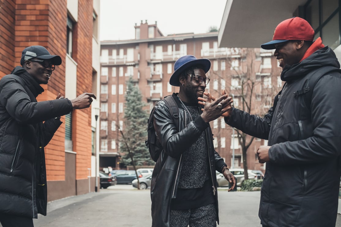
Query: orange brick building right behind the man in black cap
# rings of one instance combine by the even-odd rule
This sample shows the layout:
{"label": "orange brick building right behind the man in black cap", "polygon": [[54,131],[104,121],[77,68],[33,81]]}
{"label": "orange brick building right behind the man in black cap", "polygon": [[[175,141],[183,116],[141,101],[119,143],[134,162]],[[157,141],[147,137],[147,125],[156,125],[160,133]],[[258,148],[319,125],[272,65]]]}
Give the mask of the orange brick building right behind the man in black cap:
{"label": "orange brick building right behind the man in black cap", "polygon": [[[69,99],[84,92],[97,95],[99,9],[100,0],[0,0],[0,77],[20,65],[25,47],[41,45],[60,55],[62,64],[38,101],[58,93]],[[62,116],[63,124],[45,148],[48,200],[95,190],[95,107],[96,100],[91,108]]]}

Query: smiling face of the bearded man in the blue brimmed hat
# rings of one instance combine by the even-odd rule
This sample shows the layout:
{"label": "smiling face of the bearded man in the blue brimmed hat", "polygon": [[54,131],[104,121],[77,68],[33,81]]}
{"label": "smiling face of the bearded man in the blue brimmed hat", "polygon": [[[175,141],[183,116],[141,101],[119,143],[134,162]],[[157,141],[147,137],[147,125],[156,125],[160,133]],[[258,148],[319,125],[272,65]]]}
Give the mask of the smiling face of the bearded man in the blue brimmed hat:
{"label": "smiling face of the bearded man in the blue brimmed hat", "polygon": [[[186,78],[180,77],[180,83],[184,84],[183,92],[186,97],[183,97],[184,102],[197,103],[198,97],[203,97],[206,88],[205,81],[202,83],[198,82],[198,77],[203,77],[206,79],[205,71],[201,68],[193,69],[195,77],[187,75]],[[182,86],[182,85],[180,85]],[[181,92],[181,87],[180,87]]]}

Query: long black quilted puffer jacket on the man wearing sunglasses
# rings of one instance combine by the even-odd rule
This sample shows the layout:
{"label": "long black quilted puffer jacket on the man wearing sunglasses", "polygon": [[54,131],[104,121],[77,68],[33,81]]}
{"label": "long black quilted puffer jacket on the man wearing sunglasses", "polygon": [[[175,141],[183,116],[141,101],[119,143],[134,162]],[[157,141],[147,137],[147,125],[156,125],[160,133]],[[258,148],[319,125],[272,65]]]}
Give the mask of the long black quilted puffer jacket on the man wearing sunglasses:
{"label": "long black quilted puffer jacket on the man wearing sunglasses", "polygon": [[0,80],[0,213],[37,218],[46,215],[44,146],[72,104],[37,102],[43,88],[22,67],[12,73]]}

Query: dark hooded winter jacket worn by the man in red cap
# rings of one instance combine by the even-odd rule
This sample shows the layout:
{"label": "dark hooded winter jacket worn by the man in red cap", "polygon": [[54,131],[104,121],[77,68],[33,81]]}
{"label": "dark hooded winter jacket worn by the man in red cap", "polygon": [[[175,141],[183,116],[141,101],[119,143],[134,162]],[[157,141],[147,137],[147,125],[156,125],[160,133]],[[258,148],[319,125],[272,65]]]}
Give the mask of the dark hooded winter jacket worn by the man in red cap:
{"label": "dark hooded winter jacket worn by the man in red cap", "polygon": [[[311,111],[295,96],[307,74],[324,66],[340,68],[328,47],[283,69],[286,81],[276,109],[265,117],[233,109],[228,124],[268,139],[259,217],[271,227],[335,226],[340,184],[341,75],[332,72],[314,86]],[[226,121],[227,119],[225,119]],[[271,125],[271,127],[270,127]]]}

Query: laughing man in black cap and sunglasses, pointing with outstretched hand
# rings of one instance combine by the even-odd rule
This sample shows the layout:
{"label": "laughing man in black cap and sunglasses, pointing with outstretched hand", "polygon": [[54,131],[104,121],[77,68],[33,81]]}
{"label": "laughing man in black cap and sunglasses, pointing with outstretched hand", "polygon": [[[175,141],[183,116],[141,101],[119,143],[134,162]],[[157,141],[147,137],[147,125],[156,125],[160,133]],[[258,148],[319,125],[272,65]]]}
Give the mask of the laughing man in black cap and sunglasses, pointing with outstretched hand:
{"label": "laughing man in black cap and sunglasses, pointing with outstretched hand", "polygon": [[[60,116],[88,108],[92,93],[73,100],[61,97],[37,102],[60,56],[42,46],[23,50],[21,66],[0,80],[0,223],[32,227],[32,218],[46,215],[44,147],[62,124]],[[43,123],[44,122],[44,123]]]}

